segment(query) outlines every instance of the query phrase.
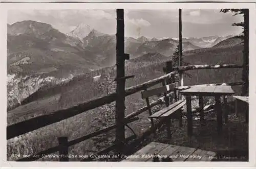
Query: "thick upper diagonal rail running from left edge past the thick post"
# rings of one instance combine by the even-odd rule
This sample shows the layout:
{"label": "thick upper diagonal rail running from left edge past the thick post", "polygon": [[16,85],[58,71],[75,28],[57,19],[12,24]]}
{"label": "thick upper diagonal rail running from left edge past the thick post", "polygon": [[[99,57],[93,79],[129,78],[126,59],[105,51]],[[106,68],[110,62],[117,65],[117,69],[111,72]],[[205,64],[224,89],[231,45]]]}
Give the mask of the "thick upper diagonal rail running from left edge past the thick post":
{"label": "thick upper diagonal rail running from left edge past the thick post", "polygon": [[[161,83],[163,79],[170,78],[172,75],[175,75],[177,73],[178,71],[173,71],[159,78],[141,83],[136,86],[126,88],[125,96],[131,95],[133,93],[143,90],[144,86],[151,87],[158,83]],[[91,100],[71,108],[58,110],[58,111],[52,112],[51,114],[41,115],[38,117],[30,118],[23,122],[19,122],[19,123],[7,126],[7,139],[11,139],[13,137],[39,129],[41,127],[45,127],[45,126],[60,122],[63,119],[67,119],[75,115],[78,115],[80,113],[83,113],[85,111],[94,109],[96,107],[109,104],[111,102],[114,102],[115,100],[116,100],[116,93],[111,93],[109,95],[102,96],[101,98]]]}

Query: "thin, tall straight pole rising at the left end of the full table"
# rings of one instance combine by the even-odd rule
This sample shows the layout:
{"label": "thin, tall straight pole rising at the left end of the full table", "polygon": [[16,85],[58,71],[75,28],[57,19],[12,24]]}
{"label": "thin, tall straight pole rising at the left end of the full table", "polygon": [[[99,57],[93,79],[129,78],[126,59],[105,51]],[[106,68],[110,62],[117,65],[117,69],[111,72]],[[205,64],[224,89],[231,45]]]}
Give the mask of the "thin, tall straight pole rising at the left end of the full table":
{"label": "thin, tall straight pole rising at the left end of the full table", "polygon": [[[181,18],[181,9],[179,9],[179,66],[182,66],[182,18]],[[183,86],[183,74],[179,72],[179,86]],[[183,95],[180,94],[180,100],[183,99]]]}

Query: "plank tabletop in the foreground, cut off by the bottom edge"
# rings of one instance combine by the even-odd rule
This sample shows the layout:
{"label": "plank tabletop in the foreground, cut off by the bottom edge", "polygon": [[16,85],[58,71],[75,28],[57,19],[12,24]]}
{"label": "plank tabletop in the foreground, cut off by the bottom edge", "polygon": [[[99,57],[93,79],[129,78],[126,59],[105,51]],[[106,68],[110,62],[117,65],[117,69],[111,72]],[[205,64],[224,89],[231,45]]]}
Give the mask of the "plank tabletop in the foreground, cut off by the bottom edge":
{"label": "plank tabletop in the foreground, cut off by the bottom edge", "polygon": [[165,157],[172,159],[169,161],[211,161],[216,158],[216,155],[211,151],[151,142],[122,161],[162,161]]}

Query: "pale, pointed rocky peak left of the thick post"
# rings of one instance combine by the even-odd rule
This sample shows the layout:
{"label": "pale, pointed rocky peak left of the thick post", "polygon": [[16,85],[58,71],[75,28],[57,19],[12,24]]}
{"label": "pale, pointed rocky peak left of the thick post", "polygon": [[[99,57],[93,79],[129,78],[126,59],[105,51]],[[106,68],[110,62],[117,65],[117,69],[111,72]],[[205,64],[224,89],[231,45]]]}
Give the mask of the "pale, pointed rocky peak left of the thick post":
{"label": "pale, pointed rocky peak left of the thick post", "polygon": [[92,28],[89,25],[86,25],[85,23],[81,23],[78,25],[73,31],[68,33],[68,36],[79,38],[82,40],[84,37],[86,37],[90,32],[92,31]]}

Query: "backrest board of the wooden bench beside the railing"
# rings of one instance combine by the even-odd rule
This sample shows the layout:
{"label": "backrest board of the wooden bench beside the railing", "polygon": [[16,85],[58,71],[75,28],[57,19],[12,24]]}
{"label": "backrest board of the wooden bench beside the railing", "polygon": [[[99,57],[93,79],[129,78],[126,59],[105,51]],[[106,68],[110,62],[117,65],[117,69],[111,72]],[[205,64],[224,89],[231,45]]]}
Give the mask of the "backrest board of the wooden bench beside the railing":
{"label": "backrest board of the wooden bench beside the railing", "polygon": [[158,88],[154,88],[151,90],[145,90],[145,91],[141,92],[141,97],[142,97],[142,99],[146,99],[153,95],[157,95],[160,93],[167,93],[168,91],[174,90],[178,86],[179,86],[179,83],[175,82],[175,83],[168,84],[168,85],[158,87]]}

